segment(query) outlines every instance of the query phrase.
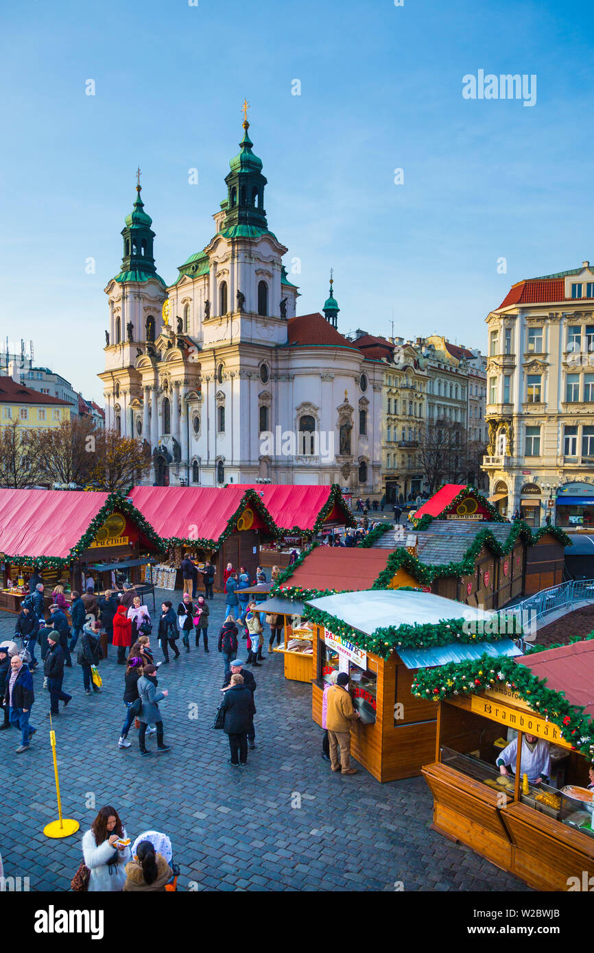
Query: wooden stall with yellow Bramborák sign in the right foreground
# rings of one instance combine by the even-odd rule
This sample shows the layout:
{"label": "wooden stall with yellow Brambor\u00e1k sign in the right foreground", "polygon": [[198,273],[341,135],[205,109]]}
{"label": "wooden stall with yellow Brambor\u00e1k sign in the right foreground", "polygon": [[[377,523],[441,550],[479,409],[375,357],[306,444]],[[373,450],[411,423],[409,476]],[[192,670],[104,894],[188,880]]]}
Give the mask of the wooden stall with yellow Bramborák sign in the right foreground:
{"label": "wooden stall with yellow Brambor\u00e1k sign in the right foreground", "polygon": [[[584,889],[594,876],[593,684],[594,640],[418,673],[415,697],[438,700],[435,755],[422,769],[434,828],[536,889]],[[526,735],[549,746],[540,782],[524,765]],[[496,760],[513,736],[518,754],[502,759],[502,776]]]}

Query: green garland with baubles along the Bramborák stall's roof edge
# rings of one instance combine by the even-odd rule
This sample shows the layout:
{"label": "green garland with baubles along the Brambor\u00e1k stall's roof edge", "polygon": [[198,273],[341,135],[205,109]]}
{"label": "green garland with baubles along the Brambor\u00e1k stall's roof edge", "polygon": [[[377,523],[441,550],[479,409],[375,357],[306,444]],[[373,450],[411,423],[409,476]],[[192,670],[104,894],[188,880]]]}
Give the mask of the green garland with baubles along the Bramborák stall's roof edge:
{"label": "green garland with baubles along the Brambor\u00e1k stall's roof edge", "polygon": [[563,740],[589,760],[594,759],[594,721],[584,715],[582,705],[572,705],[563,692],[547,688],[529,668],[514,659],[487,655],[472,661],[448,662],[439,668],[419,669],[411,688],[415,698],[440,701],[455,695],[472,695],[504,682],[527,702],[535,713],[552,721]]}

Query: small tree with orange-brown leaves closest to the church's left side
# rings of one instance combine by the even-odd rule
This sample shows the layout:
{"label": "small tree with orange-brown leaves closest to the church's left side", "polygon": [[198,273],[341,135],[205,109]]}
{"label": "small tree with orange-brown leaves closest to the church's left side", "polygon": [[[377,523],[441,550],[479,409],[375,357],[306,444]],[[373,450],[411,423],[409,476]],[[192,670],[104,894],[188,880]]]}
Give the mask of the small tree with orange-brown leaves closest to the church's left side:
{"label": "small tree with orange-brown leaves closest to the church's left side", "polygon": [[97,490],[127,490],[138,483],[151,467],[151,453],[146,444],[115,430],[94,434],[94,452],[89,481]]}

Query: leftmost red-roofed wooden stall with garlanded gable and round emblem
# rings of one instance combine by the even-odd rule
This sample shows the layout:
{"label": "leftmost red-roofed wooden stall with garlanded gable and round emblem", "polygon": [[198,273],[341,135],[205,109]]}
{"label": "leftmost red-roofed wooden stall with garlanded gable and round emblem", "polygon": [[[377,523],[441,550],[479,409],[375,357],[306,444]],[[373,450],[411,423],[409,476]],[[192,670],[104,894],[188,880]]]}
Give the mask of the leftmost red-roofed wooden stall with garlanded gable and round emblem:
{"label": "leftmost red-roofed wooden stall with garlanded gable and round emblem", "polygon": [[[145,562],[163,551],[161,539],[127,497],[80,490],[0,490],[0,608],[20,611],[37,570],[46,605],[58,582],[66,597],[92,577],[99,591],[113,584],[112,572],[97,572],[109,558]],[[9,586],[9,580],[22,585]]]}

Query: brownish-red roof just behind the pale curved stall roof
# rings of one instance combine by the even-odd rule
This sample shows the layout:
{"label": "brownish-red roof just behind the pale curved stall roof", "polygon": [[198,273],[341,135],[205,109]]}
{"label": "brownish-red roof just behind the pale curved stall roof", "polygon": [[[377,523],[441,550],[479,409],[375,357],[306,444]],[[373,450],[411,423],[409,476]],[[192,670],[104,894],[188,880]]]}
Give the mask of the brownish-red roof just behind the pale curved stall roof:
{"label": "brownish-red roof just behind the pale curved stall roof", "polygon": [[389,549],[347,549],[338,546],[317,546],[297,566],[293,576],[282,588],[299,586],[302,589],[338,589],[360,592],[371,589],[379,574],[386,568]]}

